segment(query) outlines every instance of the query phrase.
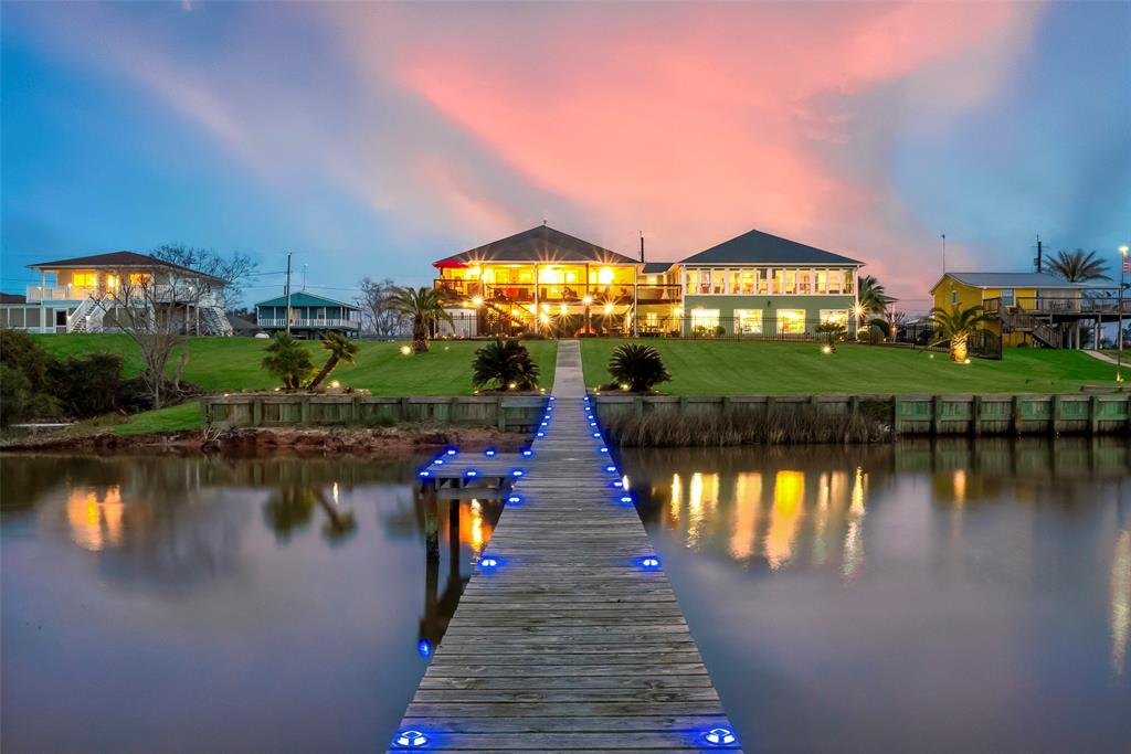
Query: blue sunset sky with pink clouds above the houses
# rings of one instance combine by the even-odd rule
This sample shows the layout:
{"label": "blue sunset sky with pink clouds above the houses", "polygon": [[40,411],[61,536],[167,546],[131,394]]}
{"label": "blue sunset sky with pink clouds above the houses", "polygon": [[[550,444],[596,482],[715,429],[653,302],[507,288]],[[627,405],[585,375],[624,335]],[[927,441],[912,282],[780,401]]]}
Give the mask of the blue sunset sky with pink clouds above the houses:
{"label": "blue sunset sky with pink clouds above the houses", "polygon": [[[165,242],[338,298],[541,224],[941,269],[1131,240],[1131,3],[3,3],[2,288]],[[1113,265],[1114,268],[1114,265]],[[34,280],[33,280],[34,278]],[[248,292],[266,298],[282,277]]]}

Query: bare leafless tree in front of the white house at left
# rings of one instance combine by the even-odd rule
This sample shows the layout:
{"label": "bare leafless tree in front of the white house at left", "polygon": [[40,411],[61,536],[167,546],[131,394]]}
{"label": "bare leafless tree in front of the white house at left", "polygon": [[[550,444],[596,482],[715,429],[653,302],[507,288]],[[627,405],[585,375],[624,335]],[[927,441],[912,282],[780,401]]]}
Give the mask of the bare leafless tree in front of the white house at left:
{"label": "bare leafless tree in front of the white house at left", "polygon": [[201,306],[215,306],[219,278],[154,259],[153,267],[115,270],[93,296],[102,310],[103,327],[118,328],[141,350],[141,378],[153,395],[154,408],[163,401],[165,367],[170,355],[182,346],[174,384],[188,362],[188,339],[199,329]]}

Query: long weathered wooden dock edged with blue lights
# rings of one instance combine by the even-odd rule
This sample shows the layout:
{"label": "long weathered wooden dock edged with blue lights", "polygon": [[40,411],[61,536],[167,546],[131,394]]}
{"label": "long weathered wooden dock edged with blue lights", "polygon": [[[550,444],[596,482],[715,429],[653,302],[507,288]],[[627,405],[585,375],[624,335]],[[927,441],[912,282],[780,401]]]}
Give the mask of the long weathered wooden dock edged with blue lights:
{"label": "long weathered wooden dock edged with blue lights", "polygon": [[547,414],[530,457],[500,459],[500,471],[523,470],[517,500],[390,751],[737,751],[630,493],[593,436],[577,341],[559,345]]}

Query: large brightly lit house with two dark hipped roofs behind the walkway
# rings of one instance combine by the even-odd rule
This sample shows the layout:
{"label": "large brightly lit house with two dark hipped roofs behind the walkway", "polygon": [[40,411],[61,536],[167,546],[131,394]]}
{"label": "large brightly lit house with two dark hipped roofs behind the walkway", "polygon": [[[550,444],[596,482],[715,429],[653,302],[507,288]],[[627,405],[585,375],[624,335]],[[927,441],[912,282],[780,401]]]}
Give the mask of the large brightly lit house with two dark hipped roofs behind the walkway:
{"label": "large brightly lit house with two dark hipped roofs behind the walkway", "polygon": [[450,335],[777,337],[853,331],[863,263],[759,231],[645,262],[541,225],[433,266]]}

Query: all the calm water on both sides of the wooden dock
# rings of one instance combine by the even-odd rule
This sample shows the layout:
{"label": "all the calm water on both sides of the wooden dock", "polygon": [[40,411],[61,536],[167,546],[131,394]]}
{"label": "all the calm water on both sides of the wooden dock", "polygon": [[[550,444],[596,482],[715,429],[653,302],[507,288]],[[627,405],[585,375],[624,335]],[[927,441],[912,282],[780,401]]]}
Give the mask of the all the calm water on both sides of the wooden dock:
{"label": "all the calm water on both sides of the wooden dock", "polygon": [[[746,751],[1131,751],[1125,444],[622,461]],[[499,512],[418,463],[0,458],[0,748],[381,747]]]}

